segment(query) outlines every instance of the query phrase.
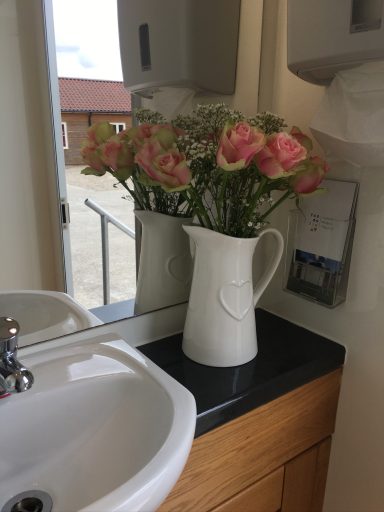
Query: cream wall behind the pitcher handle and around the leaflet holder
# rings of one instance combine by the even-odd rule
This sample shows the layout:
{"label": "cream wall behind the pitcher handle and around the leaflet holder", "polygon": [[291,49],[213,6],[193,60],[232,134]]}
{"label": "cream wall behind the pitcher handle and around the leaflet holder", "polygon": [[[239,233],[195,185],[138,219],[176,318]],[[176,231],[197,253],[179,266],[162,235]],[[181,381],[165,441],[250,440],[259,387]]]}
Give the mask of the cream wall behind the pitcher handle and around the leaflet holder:
{"label": "cream wall behind the pitcher handle and around the leaflet holder", "polygon": [[[263,46],[260,106],[282,115],[289,125],[305,129],[322,97],[322,88],[299,80],[286,67],[286,0],[265,2],[264,16],[270,28],[265,38],[271,41]],[[273,33],[276,38],[271,37]],[[355,169],[339,163],[333,165],[330,177],[360,182],[347,301],[327,309],[284,292],[281,265],[261,305],[347,347],[324,510],[382,512],[384,170]],[[288,205],[273,219],[284,234],[287,212]]]}

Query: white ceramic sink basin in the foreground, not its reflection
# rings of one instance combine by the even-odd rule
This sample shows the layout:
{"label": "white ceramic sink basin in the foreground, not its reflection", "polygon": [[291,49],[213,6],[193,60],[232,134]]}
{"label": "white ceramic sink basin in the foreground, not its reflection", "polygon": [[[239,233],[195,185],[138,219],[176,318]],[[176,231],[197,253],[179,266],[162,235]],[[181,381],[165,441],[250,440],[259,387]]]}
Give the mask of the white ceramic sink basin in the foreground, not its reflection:
{"label": "white ceramic sink basin in the foreground, not its reflection", "polygon": [[18,356],[35,383],[0,400],[0,511],[30,490],[48,493],[53,512],[156,510],[190,451],[189,391],[115,335],[90,331]]}

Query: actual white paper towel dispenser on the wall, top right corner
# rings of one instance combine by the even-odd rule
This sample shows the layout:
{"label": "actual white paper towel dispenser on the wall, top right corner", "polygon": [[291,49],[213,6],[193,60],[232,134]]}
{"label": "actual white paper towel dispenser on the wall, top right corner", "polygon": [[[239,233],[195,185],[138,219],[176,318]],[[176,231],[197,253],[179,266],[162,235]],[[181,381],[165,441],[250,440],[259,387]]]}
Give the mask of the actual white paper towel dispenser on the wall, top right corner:
{"label": "actual white paper towel dispenser on the wall, top right corner", "polygon": [[335,73],[384,59],[384,0],[288,0],[288,68],[327,85]]}

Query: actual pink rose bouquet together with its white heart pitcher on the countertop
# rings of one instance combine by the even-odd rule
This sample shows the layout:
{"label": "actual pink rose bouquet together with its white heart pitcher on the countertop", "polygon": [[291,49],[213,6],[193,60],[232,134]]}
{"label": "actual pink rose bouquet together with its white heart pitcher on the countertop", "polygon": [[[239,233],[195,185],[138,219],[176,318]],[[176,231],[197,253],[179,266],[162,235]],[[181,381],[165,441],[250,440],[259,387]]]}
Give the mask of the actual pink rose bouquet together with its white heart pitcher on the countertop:
{"label": "actual pink rose bouquet together with its white heart pitcher on the countertop", "polygon": [[[196,245],[183,333],[183,351],[210,366],[236,366],[257,354],[254,306],[283,253],[283,238],[264,229],[288,198],[320,190],[327,164],[311,156],[312,142],[297,127],[262,113],[246,118],[223,104],[201,105],[173,123],[183,130],[178,149],[192,180],[183,191],[199,227],[187,226]],[[276,241],[261,279],[253,284],[256,245]]]}

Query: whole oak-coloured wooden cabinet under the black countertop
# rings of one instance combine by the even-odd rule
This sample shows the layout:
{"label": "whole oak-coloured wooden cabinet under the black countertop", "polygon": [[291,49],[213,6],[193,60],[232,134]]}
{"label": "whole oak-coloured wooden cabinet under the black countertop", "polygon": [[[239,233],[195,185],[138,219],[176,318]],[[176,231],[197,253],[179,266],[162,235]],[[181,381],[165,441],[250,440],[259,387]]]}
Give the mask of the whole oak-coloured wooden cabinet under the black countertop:
{"label": "whole oak-coloured wooden cabinet under the black countertop", "polygon": [[320,512],[341,369],[195,439],[159,512]]}

